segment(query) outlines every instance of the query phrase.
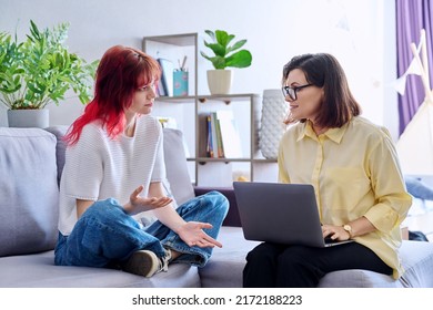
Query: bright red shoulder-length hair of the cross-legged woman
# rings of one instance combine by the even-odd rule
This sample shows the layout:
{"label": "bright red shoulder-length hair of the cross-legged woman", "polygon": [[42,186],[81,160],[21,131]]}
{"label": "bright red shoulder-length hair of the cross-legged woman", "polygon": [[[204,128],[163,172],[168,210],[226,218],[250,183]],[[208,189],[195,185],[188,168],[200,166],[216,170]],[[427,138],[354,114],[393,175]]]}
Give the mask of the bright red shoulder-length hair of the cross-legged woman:
{"label": "bright red shoulder-length hair of the cross-legged woman", "polygon": [[131,106],[134,92],[152,81],[157,83],[160,76],[158,62],[142,51],[122,45],[107,50],[97,70],[94,97],[72,123],[64,136],[67,144],[75,144],[82,128],[97,120],[115,138],[124,130],[124,111]]}

